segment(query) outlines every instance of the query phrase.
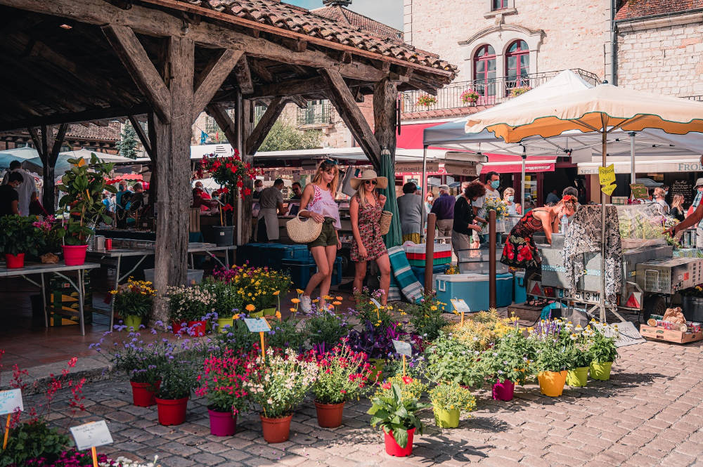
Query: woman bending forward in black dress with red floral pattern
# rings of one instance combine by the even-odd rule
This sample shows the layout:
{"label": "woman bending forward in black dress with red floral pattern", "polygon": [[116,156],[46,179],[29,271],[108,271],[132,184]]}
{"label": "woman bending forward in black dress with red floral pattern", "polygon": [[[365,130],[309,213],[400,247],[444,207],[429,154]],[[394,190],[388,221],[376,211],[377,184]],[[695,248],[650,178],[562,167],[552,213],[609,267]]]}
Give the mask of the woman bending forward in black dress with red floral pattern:
{"label": "woman bending forward in black dress with red floral pattern", "polygon": [[562,216],[571,217],[576,213],[576,197],[567,195],[555,206],[536,208],[525,214],[515,227],[503,247],[501,263],[513,268],[524,268],[525,279],[538,273],[542,266],[533,236],[543,231],[547,242],[552,243],[552,225]]}

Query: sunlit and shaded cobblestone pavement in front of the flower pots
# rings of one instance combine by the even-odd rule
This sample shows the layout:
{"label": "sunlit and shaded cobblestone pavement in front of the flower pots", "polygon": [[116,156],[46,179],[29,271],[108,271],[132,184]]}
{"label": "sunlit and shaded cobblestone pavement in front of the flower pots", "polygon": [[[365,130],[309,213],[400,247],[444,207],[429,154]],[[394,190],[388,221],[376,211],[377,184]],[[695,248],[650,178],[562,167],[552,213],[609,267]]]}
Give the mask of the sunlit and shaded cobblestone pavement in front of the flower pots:
{"label": "sunlit and shaded cobblestone pavement in front of the flower pots", "polygon": [[459,428],[441,430],[425,414],[425,435],[413,456],[383,451],[382,434],[368,426],[368,402],[347,404],[344,426],[319,428],[311,403],[293,417],[280,445],[262,439],[258,416],[240,416],[232,438],[209,435],[205,400],[191,400],[186,423],[160,426],[155,407],[131,405],[123,379],[86,385],[87,414],[68,420],[54,404],[60,426],[106,419],[115,440],[100,450],[141,459],[160,455],[163,467],[189,466],[703,466],[703,355],[700,343],[647,342],[620,349],[611,381],[540,395],[536,385],[516,388],[511,402],[479,393],[477,411]]}

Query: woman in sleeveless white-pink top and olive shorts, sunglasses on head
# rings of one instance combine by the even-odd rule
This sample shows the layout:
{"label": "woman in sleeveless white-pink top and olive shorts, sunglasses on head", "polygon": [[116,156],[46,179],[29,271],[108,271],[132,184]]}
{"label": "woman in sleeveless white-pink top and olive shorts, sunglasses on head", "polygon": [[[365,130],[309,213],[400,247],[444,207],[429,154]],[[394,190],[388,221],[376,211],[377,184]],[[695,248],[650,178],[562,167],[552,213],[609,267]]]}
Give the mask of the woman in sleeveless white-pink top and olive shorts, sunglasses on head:
{"label": "woman in sleeveless white-pink top and olive shorts, sunglasses on head", "polygon": [[320,308],[325,309],[327,304],[323,297],[330,293],[332,284],[332,270],[337,257],[337,250],[342,248],[338,231],[342,228],[340,222],[340,208],[335,202],[337,185],[340,182],[340,168],[337,161],[325,159],[317,168],[312,183],[305,186],[300,198],[300,217],[311,218],[323,224],[320,236],[308,244],[308,248],[315,259],[317,272],[310,277],[305,291],[300,298],[302,310],[309,313],[311,310],[312,291],[320,286]]}

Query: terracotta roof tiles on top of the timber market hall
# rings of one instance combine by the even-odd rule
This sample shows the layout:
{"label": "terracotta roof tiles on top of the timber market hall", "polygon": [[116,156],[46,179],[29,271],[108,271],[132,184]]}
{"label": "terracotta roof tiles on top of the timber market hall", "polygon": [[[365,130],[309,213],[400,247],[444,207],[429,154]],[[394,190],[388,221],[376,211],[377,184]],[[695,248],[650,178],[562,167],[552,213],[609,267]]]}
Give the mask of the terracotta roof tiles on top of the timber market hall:
{"label": "terracotta roof tiles on top of the timber market hall", "polygon": [[[425,67],[457,72],[456,66],[441,60],[438,55],[404,44],[396,35],[397,29],[339,6],[308,11],[279,0],[188,0],[188,3]],[[344,11],[335,12],[335,8]],[[341,14],[346,21],[335,16]]]}

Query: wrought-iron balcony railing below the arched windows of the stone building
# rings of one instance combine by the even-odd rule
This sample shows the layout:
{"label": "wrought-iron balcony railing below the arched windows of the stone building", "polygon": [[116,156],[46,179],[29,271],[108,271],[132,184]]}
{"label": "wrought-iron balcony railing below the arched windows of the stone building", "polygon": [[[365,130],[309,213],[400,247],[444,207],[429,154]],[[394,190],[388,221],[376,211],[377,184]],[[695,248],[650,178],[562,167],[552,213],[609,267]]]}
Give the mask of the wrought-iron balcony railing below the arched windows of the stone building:
{"label": "wrought-iron balcony railing below the arched windows of the stone building", "polygon": [[[593,73],[576,68],[572,70],[584,81],[593,86],[600,84],[600,79]],[[561,70],[527,74],[520,79],[501,77],[489,80],[461,81],[452,83],[437,90],[437,96],[429,96],[424,91],[406,91],[403,94],[403,113],[423,112],[427,110],[461,109],[472,105],[494,105],[504,102],[521,91],[527,91],[549,81]],[[475,103],[467,103],[462,99],[465,91],[474,91],[478,94]]]}

